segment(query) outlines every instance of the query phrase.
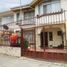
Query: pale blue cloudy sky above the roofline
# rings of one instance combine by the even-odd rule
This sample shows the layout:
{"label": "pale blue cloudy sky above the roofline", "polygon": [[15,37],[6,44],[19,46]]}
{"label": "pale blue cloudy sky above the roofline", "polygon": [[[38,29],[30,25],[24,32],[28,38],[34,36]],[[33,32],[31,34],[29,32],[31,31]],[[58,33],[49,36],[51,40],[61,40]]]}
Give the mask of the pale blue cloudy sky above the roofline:
{"label": "pale blue cloudy sky above the roofline", "polygon": [[32,0],[1,0],[0,12],[10,10],[12,7],[20,6],[20,1],[22,5],[26,5],[32,2]]}

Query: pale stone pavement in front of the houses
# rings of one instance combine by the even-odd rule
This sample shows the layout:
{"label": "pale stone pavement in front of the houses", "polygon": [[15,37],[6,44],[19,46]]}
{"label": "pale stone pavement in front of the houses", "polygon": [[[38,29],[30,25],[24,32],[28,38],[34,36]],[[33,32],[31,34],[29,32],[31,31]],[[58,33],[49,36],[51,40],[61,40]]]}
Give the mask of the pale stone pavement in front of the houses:
{"label": "pale stone pavement in front of the houses", "polygon": [[67,67],[67,63],[12,57],[0,54],[0,67]]}

